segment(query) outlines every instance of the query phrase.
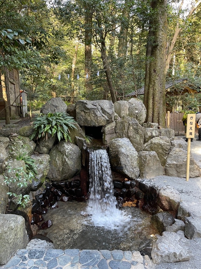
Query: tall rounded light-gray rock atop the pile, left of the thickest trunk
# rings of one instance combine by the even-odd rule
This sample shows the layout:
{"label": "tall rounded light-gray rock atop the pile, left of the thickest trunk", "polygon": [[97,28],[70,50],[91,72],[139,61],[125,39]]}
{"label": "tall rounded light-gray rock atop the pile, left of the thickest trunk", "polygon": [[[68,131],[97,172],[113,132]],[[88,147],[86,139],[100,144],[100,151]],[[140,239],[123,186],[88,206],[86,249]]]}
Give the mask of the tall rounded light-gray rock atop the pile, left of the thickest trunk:
{"label": "tall rounded light-gray rock atop the pile, left of the thickest trunk", "polygon": [[131,98],[128,103],[128,116],[135,118],[140,124],[144,123],[147,115],[147,110],[143,102],[137,98]]}

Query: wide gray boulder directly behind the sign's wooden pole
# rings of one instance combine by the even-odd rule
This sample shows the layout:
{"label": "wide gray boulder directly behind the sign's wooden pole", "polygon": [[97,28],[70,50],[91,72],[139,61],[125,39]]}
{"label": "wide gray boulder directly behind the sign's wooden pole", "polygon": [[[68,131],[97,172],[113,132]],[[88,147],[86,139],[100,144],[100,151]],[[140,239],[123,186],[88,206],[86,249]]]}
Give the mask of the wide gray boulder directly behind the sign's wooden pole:
{"label": "wide gray boulder directly behind the sign's wooden pole", "polygon": [[[165,173],[168,176],[185,178],[186,177],[186,162],[187,162],[187,152],[181,148],[173,148],[167,157],[167,162],[165,166]],[[192,155],[190,155],[190,169],[189,177],[200,177],[201,168],[195,162]]]}

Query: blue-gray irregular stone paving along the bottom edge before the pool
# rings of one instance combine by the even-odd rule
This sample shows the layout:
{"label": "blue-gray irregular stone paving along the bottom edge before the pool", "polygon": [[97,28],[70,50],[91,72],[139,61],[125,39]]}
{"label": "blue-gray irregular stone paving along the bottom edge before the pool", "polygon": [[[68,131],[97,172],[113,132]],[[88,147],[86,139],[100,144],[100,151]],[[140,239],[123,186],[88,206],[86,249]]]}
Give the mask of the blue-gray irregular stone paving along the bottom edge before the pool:
{"label": "blue-gray irregular stone paving along the bottom edge before the pool", "polygon": [[139,251],[21,249],[1,269],[144,269]]}

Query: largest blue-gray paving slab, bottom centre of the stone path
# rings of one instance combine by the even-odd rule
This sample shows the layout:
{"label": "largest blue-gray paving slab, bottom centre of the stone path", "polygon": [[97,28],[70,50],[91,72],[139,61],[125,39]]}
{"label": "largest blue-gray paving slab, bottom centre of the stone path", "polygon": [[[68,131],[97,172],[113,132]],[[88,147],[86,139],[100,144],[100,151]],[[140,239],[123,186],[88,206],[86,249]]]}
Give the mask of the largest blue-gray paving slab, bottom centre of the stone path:
{"label": "largest blue-gray paving slab, bottom centre of the stone path", "polygon": [[94,266],[100,261],[98,250],[82,250],[80,252],[80,264],[84,266]]}

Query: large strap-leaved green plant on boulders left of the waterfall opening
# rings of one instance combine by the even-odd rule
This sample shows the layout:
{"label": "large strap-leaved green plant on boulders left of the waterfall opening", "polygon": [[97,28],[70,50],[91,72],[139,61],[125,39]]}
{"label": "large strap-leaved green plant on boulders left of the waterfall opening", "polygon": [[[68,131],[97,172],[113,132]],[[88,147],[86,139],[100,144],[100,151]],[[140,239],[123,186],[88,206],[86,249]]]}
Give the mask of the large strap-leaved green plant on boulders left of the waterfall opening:
{"label": "large strap-leaved green plant on boulders left of the waterfall opening", "polygon": [[36,139],[46,137],[47,140],[48,134],[52,135],[52,137],[54,134],[57,134],[59,141],[64,138],[66,141],[69,140],[71,142],[69,128],[76,128],[73,125],[75,122],[74,118],[65,112],[41,113],[33,122],[35,131],[30,139],[33,139],[37,135]]}

